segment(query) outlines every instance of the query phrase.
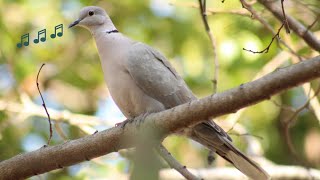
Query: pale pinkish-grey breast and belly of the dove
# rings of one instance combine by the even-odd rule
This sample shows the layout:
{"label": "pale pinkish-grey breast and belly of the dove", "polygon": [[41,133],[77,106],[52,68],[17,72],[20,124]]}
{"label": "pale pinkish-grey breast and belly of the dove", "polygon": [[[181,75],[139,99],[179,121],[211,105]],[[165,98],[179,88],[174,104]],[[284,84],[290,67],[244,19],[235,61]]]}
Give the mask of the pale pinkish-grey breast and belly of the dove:
{"label": "pale pinkish-grey breast and belly of the dove", "polygon": [[110,53],[100,58],[109,92],[122,113],[127,118],[133,118],[164,110],[162,103],[146,95],[129,74],[126,53],[116,49]]}

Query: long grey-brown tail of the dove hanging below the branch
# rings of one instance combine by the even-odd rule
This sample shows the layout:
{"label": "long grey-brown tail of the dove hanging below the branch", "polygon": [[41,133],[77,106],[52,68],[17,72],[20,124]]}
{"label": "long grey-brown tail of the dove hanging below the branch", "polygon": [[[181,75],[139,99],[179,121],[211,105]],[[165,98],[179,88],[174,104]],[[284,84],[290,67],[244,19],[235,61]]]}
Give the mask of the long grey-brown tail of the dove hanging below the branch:
{"label": "long grey-brown tail of the dove hanging below the branch", "polygon": [[232,145],[231,138],[214,122],[196,125],[189,136],[215,151],[248,177],[254,180],[270,179],[265,170]]}

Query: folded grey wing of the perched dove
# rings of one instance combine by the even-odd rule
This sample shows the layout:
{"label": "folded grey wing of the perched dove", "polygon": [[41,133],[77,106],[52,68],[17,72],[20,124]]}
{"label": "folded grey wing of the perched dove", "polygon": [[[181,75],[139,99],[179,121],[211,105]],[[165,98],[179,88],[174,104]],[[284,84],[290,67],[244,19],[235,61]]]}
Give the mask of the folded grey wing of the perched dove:
{"label": "folded grey wing of the perched dove", "polygon": [[196,99],[166,58],[152,47],[134,43],[126,64],[135,83],[166,108]]}

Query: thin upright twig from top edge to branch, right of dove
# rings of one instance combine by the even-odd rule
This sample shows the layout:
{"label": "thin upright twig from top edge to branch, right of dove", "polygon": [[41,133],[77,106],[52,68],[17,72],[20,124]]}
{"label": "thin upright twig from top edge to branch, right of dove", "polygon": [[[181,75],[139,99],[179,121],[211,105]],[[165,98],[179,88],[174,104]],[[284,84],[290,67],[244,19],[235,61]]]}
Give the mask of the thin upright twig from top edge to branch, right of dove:
{"label": "thin upright twig from top edge to branch, right of dove", "polygon": [[207,19],[206,4],[207,4],[206,0],[199,0],[200,15],[202,17],[202,21],[203,21],[205,30],[209,36],[212,50],[213,50],[214,75],[213,75],[212,83],[213,83],[213,93],[216,93],[217,89],[218,89],[217,87],[218,87],[218,74],[219,74],[219,60],[218,60],[218,56],[217,56],[216,42],[215,42],[215,39],[213,38],[213,34],[210,30],[210,26],[209,26],[208,19]]}

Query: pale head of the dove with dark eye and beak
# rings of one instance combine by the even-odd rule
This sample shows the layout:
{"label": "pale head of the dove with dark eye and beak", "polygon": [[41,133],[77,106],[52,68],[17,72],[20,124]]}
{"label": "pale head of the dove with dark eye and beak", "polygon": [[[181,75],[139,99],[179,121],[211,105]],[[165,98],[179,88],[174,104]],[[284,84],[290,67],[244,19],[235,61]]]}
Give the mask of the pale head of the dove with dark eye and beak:
{"label": "pale head of the dove with dark eye and beak", "polygon": [[91,32],[96,29],[112,29],[114,25],[107,15],[106,11],[97,6],[87,6],[80,10],[79,18],[69,25],[84,27]]}

